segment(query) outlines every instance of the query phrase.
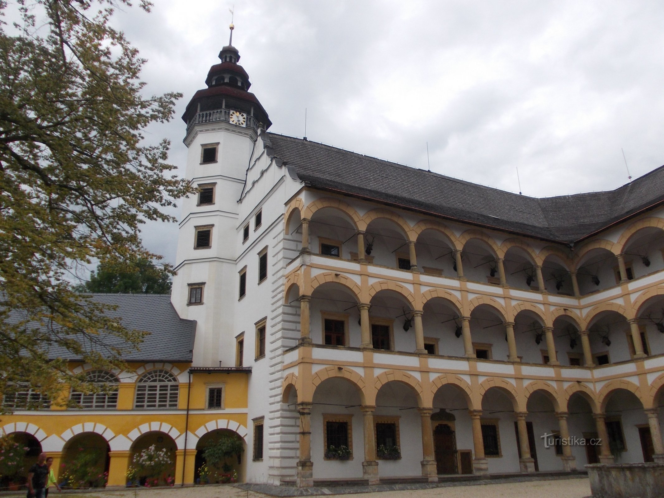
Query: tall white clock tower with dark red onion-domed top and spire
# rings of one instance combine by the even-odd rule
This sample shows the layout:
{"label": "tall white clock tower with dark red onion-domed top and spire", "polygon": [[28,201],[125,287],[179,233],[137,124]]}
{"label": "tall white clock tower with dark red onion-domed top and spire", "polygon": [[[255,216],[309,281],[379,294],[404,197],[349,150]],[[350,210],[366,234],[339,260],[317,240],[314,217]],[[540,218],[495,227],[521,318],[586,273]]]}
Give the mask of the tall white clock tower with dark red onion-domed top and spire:
{"label": "tall white clock tower with dark red onion-domed top and spire", "polygon": [[197,193],[182,200],[177,276],[171,299],[179,315],[197,321],[193,365],[234,367],[236,260],[241,250],[238,200],[261,129],[272,124],[249,92],[249,76],[230,41],[220,63],[187,104],[186,177]]}

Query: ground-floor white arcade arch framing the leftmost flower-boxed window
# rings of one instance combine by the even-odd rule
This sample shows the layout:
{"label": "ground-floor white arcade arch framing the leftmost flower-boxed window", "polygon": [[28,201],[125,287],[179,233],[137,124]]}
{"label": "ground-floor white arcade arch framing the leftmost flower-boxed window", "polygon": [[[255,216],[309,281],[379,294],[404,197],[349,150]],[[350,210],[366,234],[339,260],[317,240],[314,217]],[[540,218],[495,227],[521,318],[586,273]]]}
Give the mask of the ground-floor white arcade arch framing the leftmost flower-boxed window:
{"label": "ground-floor white arcade arch framing the leftmost flower-boxed window", "polygon": [[361,477],[365,459],[362,396],[343,377],[326,378],[313,392],[311,461],[313,477]]}

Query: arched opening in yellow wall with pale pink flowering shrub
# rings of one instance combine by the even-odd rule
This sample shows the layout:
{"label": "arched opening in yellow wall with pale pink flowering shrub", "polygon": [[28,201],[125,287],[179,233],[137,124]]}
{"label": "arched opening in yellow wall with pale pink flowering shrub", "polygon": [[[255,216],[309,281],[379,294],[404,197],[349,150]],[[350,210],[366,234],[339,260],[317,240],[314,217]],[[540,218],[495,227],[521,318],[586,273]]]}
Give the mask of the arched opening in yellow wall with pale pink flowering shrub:
{"label": "arched opening in yellow wall with pale pink flowering shrub", "polygon": [[133,469],[129,480],[141,486],[172,486],[176,451],[175,441],[165,432],[144,432],[129,450],[129,465]]}

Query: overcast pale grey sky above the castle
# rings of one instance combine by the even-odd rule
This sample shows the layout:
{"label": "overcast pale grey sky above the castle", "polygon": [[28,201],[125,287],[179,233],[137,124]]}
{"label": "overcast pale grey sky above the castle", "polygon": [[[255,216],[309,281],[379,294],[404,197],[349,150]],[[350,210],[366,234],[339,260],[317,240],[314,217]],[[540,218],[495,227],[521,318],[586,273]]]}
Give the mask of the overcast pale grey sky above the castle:
{"label": "overcast pale grey sky above the castle", "polygon": [[[155,0],[116,25],[178,91],[150,128],[185,167],[179,116],[228,43],[232,1]],[[233,44],[272,120],[307,137],[536,197],[615,189],[664,163],[662,1],[236,0]],[[178,212],[179,214],[179,212]],[[177,226],[145,227],[175,262]]]}

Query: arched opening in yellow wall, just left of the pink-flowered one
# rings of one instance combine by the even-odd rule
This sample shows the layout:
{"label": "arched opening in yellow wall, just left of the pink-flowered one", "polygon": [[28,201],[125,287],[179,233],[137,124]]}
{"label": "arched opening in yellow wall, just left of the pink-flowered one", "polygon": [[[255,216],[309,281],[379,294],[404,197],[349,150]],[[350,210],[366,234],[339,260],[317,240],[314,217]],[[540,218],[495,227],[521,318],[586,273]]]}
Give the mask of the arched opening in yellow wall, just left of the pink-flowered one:
{"label": "arched opening in yellow wall, just left of the pink-flowered one", "polygon": [[73,489],[105,487],[111,463],[108,442],[96,432],[81,432],[62,450],[58,481]]}

